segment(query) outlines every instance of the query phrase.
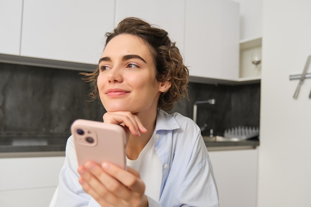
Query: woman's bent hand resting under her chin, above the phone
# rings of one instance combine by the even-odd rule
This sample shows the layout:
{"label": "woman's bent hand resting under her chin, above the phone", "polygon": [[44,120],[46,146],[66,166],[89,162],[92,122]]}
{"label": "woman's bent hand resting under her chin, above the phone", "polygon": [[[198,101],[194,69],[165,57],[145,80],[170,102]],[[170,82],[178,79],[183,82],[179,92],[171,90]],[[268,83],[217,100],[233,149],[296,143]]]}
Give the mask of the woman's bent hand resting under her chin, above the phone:
{"label": "woman's bent hand resting under her chin, above the phone", "polygon": [[104,123],[119,124],[123,126],[127,133],[127,138],[130,133],[136,137],[140,137],[140,133],[147,133],[147,129],[143,126],[137,115],[137,113],[132,114],[131,112],[126,111],[107,112],[103,116],[103,121]]}

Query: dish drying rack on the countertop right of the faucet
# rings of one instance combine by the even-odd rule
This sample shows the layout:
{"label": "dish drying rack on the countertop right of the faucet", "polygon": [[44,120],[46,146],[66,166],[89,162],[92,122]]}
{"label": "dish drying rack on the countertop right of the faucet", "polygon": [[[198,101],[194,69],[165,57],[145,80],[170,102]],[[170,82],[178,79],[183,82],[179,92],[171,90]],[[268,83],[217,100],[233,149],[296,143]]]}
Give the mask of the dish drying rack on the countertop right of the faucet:
{"label": "dish drying rack on the countertop right of the faucet", "polygon": [[258,127],[245,127],[239,126],[231,129],[225,130],[224,137],[225,138],[238,138],[238,139],[248,139],[254,138],[259,135]]}

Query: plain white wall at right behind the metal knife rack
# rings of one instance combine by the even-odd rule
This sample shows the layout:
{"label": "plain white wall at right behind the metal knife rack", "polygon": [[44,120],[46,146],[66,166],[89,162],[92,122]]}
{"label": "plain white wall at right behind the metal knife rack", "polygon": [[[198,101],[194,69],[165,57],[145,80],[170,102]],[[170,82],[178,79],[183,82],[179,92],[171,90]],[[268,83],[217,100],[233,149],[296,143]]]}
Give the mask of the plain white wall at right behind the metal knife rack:
{"label": "plain white wall at right behind the metal knife rack", "polygon": [[[311,207],[311,1],[263,0],[258,207]],[[309,68],[311,72],[311,67]]]}

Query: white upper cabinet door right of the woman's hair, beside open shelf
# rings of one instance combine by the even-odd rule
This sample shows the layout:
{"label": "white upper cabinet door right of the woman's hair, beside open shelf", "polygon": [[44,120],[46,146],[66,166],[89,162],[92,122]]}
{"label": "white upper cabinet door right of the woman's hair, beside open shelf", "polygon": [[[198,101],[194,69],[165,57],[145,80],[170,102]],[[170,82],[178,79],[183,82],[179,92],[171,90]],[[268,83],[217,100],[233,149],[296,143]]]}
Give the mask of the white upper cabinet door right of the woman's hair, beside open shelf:
{"label": "white upper cabinet door right of the woman's hair, beside open shelf", "polygon": [[237,80],[238,3],[186,0],[184,51],[191,76]]}

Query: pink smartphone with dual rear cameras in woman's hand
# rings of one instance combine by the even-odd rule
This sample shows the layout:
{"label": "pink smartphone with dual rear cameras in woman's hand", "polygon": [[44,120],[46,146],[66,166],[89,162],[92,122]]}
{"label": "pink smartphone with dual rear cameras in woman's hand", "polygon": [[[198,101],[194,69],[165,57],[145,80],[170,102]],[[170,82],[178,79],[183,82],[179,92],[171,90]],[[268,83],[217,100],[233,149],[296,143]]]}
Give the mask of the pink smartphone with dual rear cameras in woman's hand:
{"label": "pink smartphone with dual rear cameras in woman's hand", "polygon": [[78,165],[87,161],[111,162],[126,169],[126,137],[124,129],[115,124],[78,119],[71,126]]}

